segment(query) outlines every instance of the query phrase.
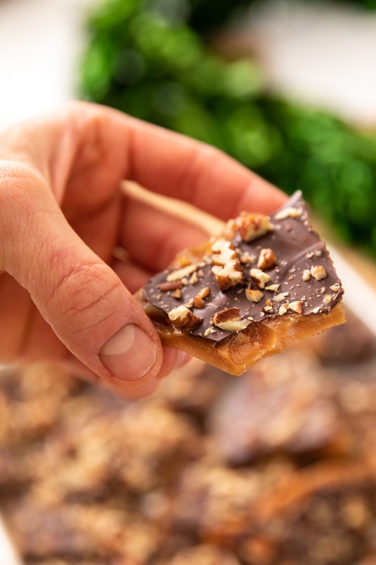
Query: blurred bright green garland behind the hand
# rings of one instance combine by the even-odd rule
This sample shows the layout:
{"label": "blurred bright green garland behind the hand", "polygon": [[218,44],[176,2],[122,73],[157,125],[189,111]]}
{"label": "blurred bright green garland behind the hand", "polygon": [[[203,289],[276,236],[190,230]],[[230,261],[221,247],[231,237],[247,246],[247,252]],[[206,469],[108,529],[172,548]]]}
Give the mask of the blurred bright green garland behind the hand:
{"label": "blurred bright green garland behind the hand", "polygon": [[205,44],[250,3],[107,0],[89,20],[81,95],[218,146],[286,192],[302,189],[342,237],[376,255],[376,135],[270,97],[258,66]]}

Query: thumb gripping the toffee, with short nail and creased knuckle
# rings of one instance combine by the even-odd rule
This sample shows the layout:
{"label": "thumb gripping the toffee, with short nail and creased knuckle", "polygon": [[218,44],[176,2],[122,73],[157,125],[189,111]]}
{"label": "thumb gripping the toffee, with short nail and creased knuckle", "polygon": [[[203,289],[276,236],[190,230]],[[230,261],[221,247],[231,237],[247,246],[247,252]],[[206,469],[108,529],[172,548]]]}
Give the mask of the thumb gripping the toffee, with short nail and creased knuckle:
{"label": "thumb gripping the toffee, with short nail and creased knuckle", "polygon": [[28,169],[0,181],[0,241],[3,268],[86,367],[125,388],[157,375],[162,346],[151,321]]}

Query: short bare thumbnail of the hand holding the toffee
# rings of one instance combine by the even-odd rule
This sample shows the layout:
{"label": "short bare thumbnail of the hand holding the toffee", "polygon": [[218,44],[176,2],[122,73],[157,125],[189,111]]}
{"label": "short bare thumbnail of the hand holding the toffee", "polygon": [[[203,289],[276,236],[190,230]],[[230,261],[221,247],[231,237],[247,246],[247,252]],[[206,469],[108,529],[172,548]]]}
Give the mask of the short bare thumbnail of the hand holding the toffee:
{"label": "short bare thumbnail of the hand holding the toffee", "polygon": [[157,349],[138,325],[124,325],[104,344],[100,358],[114,377],[140,379],[153,366]]}

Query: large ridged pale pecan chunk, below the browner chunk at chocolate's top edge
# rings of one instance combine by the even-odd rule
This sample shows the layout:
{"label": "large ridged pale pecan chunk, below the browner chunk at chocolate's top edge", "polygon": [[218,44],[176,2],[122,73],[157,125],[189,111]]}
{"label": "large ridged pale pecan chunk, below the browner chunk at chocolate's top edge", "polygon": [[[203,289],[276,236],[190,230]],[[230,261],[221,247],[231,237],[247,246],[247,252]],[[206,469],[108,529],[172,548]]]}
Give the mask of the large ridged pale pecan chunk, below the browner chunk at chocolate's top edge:
{"label": "large ridged pale pecan chunk, below the browner chunk at chocolate's top edge", "polygon": [[231,241],[219,239],[211,246],[211,260],[214,267],[211,269],[221,290],[242,284],[243,272],[236,250]]}

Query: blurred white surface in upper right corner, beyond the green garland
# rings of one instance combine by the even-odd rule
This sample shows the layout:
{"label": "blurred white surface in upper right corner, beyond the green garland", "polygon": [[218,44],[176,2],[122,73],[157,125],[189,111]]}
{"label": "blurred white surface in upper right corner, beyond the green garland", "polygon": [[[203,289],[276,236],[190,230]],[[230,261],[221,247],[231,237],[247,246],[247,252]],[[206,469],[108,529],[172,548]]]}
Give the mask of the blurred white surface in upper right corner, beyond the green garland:
{"label": "blurred white surface in upper right corner, beyond the green garland", "polygon": [[376,12],[345,6],[263,1],[247,33],[277,92],[376,126]]}

